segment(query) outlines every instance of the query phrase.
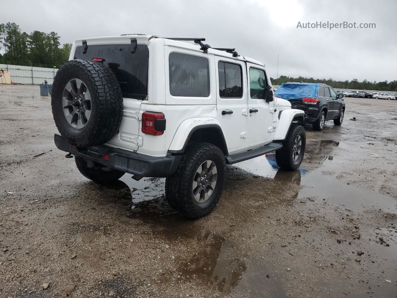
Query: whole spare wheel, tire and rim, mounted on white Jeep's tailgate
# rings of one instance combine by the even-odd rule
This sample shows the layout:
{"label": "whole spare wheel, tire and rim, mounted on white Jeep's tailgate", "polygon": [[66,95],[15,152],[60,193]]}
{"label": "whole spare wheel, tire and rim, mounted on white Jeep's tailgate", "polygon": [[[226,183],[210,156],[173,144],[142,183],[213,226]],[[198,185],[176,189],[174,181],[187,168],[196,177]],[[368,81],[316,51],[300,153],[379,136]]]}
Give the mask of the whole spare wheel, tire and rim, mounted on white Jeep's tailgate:
{"label": "whole spare wheel, tire and rim, mounted on white Jeep's tailgate", "polygon": [[96,146],[118,132],[123,94],[110,68],[76,59],[66,62],[56,73],[51,106],[56,127],[69,143]]}

